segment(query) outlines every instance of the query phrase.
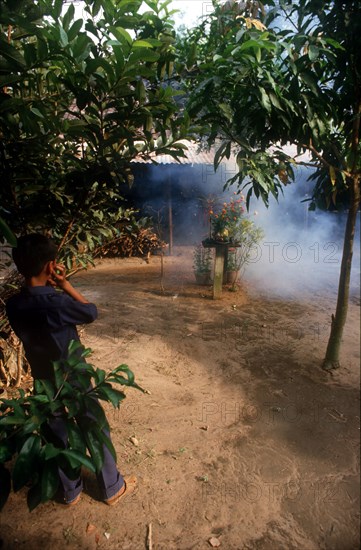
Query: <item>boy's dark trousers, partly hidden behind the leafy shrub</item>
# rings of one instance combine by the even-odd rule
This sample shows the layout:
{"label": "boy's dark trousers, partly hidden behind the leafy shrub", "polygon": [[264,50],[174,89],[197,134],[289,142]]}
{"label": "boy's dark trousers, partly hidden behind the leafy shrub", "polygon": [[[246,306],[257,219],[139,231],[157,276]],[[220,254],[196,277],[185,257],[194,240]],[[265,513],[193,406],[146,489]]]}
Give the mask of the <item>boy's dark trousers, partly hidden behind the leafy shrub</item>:
{"label": "boy's dark trousers, partly hidden behind the leafy shrub", "polygon": [[[88,417],[94,420],[94,417],[89,412],[85,413],[85,417]],[[83,429],[82,424],[85,424],[85,422],[84,421],[82,422],[82,417],[81,416],[77,417],[76,421],[79,427]],[[64,448],[66,448],[68,446],[68,434],[66,430],[66,422],[64,421],[63,416],[61,414],[59,415],[55,414],[49,420],[48,425],[51,431],[53,432],[53,434],[56,436],[56,438],[61,440],[61,442],[64,445]],[[103,433],[110,439],[110,434],[108,430],[103,429]],[[103,467],[99,472],[99,474],[97,474],[97,480],[98,480],[99,488],[102,492],[102,498],[103,500],[105,500],[114,496],[119,491],[119,489],[121,489],[121,487],[124,485],[124,479],[123,479],[123,476],[119,473],[116,462],[106,445],[103,445],[103,453],[104,453]],[[60,481],[64,491],[65,502],[71,502],[83,490],[82,479],[80,476],[75,480],[70,479],[65,474],[65,472],[60,468],[59,468],[59,477],[60,477]]]}

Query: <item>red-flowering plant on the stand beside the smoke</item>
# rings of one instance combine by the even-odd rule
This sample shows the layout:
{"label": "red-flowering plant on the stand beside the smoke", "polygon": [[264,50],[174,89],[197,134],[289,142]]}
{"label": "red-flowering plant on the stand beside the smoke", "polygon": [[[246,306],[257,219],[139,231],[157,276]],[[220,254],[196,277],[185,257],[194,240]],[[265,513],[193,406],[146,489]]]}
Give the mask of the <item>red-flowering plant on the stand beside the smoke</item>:
{"label": "red-flowering plant on the stand beside the smoke", "polygon": [[212,238],[216,241],[233,242],[238,233],[242,216],[245,212],[243,205],[244,197],[239,199],[232,198],[229,202],[224,202],[222,209],[215,212],[210,210],[210,221]]}

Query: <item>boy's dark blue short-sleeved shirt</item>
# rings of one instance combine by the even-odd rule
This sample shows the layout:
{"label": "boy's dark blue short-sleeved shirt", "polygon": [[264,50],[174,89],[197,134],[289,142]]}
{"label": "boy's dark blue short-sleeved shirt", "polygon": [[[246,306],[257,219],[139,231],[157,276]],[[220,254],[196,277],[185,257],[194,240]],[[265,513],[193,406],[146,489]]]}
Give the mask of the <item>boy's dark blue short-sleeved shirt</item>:
{"label": "boy's dark blue short-sleeved shirt", "polygon": [[52,361],[65,359],[76,325],[97,318],[94,304],[77,302],[50,286],[25,287],[6,303],[12,329],[23,342],[33,378],[53,378]]}

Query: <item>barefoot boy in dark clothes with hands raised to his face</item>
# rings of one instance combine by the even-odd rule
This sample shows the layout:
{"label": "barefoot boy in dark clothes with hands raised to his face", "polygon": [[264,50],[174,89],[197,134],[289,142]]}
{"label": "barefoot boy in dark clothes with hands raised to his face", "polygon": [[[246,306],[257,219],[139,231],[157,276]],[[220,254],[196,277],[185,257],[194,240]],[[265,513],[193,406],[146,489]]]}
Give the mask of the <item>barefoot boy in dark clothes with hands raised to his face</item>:
{"label": "barefoot boy in dark clothes with hands raised to his face", "polygon": [[[56,254],[56,245],[37,233],[19,237],[13,249],[13,260],[25,278],[25,287],[7,301],[6,312],[12,329],[23,342],[34,379],[52,380],[52,362],[66,359],[70,341],[79,340],[76,325],[91,323],[97,317],[96,306],[66,279],[65,268],[55,261]],[[81,425],[81,418],[77,421]],[[66,447],[66,425],[61,415],[54,415],[49,426]],[[134,490],[136,478],[123,478],[106,445],[103,451],[98,482],[104,502],[113,505]],[[83,489],[81,478],[71,480],[62,470],[59,476],[64,503],[76,504]]]}

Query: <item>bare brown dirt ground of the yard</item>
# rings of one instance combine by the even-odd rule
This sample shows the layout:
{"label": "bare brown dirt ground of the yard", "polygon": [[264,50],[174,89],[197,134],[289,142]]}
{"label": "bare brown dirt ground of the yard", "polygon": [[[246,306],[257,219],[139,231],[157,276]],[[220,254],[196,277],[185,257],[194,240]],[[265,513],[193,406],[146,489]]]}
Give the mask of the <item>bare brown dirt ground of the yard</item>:
{"label": "bare brown dirt ground of the yard", "polygon": [[[25,491],[0,519],[3,549],[353,550],[359,537],[360,300],[342,368],[320,368],[336,291],[282,299],[248,281],[196,286],[191,248],[102,260],[73,280],[99,310],[82,330],[105,370],[127,363],[149,393],[107,406],[123,474],[115,507],[91,474],[78,505],[29,513]],[[280,284],[282,284],[280,282]]]}

